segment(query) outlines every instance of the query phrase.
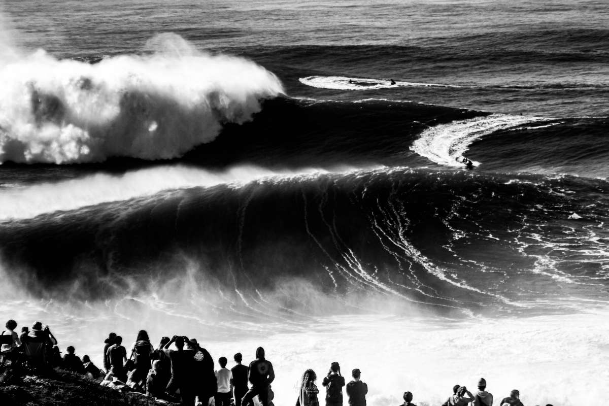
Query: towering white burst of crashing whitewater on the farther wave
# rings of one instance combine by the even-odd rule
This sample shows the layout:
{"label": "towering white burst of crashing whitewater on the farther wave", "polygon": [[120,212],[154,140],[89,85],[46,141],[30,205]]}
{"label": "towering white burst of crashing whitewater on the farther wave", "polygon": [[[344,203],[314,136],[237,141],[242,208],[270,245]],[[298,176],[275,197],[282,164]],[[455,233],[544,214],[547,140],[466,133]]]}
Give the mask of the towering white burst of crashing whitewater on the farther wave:
{"label": "towering white burst of crashing whitewater on the farther wave", "polygon": [[167,159],[241,124],[280,81],[243,58],[197,52],[177,35],[152,54],[90,65],[44,51],[0,61],[0,162],[82,163],[112,156]]}

